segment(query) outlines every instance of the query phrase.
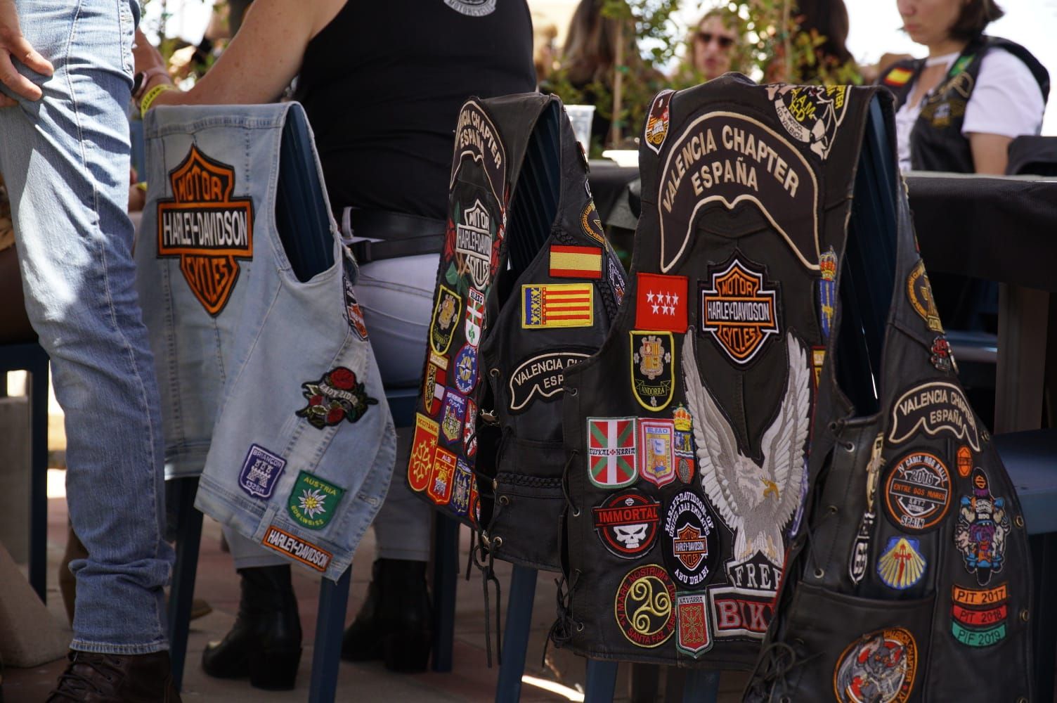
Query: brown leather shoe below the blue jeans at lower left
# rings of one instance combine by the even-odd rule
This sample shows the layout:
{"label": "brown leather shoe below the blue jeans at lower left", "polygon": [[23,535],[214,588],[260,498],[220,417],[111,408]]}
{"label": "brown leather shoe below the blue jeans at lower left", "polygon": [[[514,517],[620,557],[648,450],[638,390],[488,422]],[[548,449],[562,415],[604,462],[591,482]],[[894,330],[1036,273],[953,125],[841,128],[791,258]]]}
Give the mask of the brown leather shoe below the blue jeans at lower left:
{"label": "brown leather shoe below the blue jeans at lower left", "polygon": [[100,654],[71,651],[49,703],[180,703],[169,652]]}

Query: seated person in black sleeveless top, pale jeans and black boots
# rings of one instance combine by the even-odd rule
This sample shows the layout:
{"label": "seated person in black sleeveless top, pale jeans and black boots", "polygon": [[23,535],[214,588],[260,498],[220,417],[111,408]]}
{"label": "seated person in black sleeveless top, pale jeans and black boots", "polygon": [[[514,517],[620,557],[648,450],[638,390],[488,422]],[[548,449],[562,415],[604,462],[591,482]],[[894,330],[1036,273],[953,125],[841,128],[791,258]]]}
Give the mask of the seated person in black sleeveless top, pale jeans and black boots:
{"label": "seated person in black sleeveless top, pale jeans and black boots", "polygon": [[[459,109],[470,95],[534,91],[532,50],[524,0],[255,0],[191,90],[159,88],[167,86],[164,62],[146,45],[136,68],[148,77],[141,89],[148,107],[272,101],[297,76],[295,98],[315,134],[331,206],[357,252],[355,294],[382,378],[387,387],[418,388]],[[360,244],[367,240],[369,256]],[[397,431],[400,467],[410,436],[409,428]],[[404,476],[393,471],[374,521],[377,558],[342,656],[421,671],[432,628],[431,512]],[[294,656],[301,630],[288,562],[234,531],[225,536],[242,578],[239,616],[222,642],[205,649],[202,664],[210,676],[237,678],[247,676],[252,652],[262,647]]]}

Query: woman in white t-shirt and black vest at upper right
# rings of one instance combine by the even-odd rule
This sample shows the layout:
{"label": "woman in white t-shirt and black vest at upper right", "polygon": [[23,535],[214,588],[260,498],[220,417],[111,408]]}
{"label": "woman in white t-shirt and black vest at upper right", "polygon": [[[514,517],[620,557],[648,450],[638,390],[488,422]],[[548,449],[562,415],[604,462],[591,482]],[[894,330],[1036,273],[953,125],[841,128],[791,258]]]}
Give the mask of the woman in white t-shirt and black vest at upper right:
{"label": "woman in white t-shirt and black vest at upper right", "polygon": [[1004,14],[994,0],[896,5],[904,31],[928,49],[880,75],[898,105],[900,168],[1004,173],[1009,142],[1042,127],[1049,73],[1020,44],[984,34]]}

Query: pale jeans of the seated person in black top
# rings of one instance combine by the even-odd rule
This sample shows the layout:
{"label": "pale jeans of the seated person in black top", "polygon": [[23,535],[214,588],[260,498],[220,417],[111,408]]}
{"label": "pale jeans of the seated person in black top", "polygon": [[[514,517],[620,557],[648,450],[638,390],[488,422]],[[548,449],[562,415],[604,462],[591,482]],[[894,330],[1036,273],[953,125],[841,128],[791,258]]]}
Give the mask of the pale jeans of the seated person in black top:
{"label": "pale jeans of the seated person in black top", "polygon": [[[422,363],[432,315],[433,288],[439,256],[435,254],[383,259],[360,264],[356,299],[371,335],[382,382],[389,388],[421,383]],[[429,560],[432,511],[407,487],[411,428],[396,429],[396,467],[386,502],[374,518],[375,556],[379,559]],[[236,569],[285,563],[230,528],[224,537]]]}

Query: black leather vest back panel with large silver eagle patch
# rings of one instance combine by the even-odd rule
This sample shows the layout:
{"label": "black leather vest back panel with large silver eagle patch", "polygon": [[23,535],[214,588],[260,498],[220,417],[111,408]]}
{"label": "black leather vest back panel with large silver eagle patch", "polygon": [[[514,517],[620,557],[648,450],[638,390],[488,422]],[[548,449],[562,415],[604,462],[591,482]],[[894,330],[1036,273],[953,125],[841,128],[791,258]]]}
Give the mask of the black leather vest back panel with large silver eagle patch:
{"label": "black leather vest back panel with large silver eagle patch", "polygon": [[864,99],[727,74],[654,98],[628,294],[565,374],[556,640],[748,668],[800,524]]}

